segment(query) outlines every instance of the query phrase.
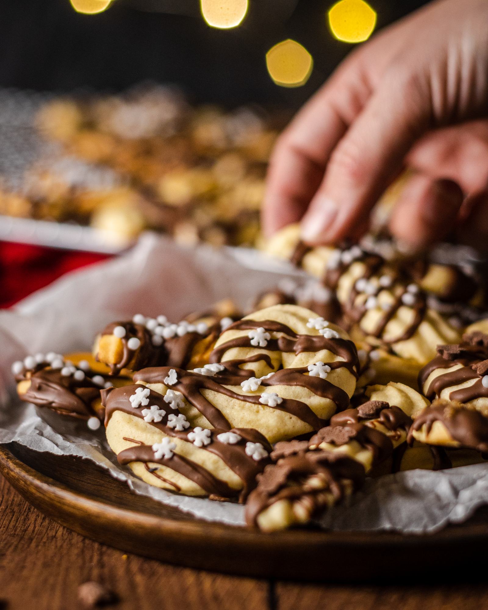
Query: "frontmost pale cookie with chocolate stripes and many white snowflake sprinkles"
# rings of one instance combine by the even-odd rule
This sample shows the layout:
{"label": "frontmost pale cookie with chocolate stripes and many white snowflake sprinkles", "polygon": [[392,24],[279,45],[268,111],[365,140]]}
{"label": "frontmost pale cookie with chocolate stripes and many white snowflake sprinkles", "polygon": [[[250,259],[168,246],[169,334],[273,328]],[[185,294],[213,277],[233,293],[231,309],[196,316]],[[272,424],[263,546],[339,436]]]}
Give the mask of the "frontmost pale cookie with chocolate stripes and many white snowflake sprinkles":
{"label": "frontmost pale cookie with chocolate stripes and many white snowflake sprinkles", "polygon": [[102,391],[110,447],[147,483],[185,495],[245,500],[270,463],[253,429],[193,428],[171,400],[140,385]]}

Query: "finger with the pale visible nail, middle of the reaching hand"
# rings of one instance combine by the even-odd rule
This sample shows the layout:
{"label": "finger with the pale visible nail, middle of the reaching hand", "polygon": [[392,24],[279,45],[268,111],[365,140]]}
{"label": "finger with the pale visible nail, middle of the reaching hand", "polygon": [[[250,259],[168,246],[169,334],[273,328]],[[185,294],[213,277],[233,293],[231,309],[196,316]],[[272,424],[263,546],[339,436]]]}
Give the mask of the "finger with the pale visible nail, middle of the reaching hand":
{"label": "finger with the pale visible nail, middle of the reaching hand", "polygon": [[[390,73],[391,74],[391,73]],[[365,224],[371,208],[428,128],[428,80],[384,78],[331,154],[325,177],[301,223],[308,243],[332,243]],[[392,83],[395,82],[395,87]]]}

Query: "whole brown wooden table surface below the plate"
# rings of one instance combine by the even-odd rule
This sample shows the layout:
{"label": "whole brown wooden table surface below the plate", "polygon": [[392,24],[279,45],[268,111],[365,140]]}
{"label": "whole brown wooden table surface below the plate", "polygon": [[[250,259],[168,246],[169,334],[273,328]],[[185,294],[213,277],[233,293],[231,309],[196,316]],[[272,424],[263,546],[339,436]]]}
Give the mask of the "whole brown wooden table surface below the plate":
{"label": "whole brown wooden table surface below the plate", "polygon": [[[211,550],[209,550],[211,552]],[[327,562],[334,558],[324,558]],[[488,584],[300,584],[165,565],[85,539],[32,508],[0,476],[0,610],[80,608],[77,588],[112,589],[117,610],[467,610],[488,607]],[[107,607],[107,606],[106,606]]]}

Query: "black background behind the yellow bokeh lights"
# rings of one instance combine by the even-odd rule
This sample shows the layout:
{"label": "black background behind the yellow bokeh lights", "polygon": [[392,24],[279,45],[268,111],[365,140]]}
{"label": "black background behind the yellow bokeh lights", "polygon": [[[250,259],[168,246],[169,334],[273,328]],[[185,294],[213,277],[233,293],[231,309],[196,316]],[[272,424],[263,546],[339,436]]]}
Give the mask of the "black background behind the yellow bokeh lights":
{"label": "black background behind the yellow bokeh lights", "polygon": [[[69,0],[0,0],[0,86],[118,91],[149,79],[178,83],[195,102],[295,108],[352,48],[328,30],[332,4],[250,0],[240,27],[218,30],[199,15],[198,0],[115,0],[99,15],[80,15]],[[370,4],[379,29],[425,2]],[[168,13],[175,10],[185,14]],[[267,73],[266,52],[285,38],[294,38],[314,57],[304,87],[278,87]]]}

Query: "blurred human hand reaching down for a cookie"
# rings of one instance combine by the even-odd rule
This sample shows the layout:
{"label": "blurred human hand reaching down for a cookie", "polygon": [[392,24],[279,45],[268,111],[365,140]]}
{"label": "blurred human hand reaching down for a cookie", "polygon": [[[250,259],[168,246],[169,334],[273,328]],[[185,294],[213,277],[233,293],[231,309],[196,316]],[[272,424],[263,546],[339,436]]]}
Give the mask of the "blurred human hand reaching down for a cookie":
{"label": "blurred human hand reaching down for a cookie", "polygon": [[265,232],[303,217],[306,242],[357,238],[409,165],[392,233],[421,248],[456,226],[488,248],[486,23],[486,0],[437,1],[354,51],[279,138]]}

